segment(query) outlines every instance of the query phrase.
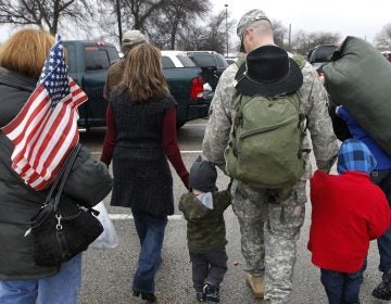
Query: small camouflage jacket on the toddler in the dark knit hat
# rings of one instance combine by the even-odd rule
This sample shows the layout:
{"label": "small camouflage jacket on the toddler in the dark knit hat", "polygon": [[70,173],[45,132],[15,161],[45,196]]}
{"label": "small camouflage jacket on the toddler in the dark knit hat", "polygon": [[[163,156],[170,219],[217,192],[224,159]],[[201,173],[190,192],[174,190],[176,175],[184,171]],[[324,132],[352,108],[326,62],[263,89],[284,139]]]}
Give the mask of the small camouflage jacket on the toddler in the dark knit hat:
{"label": "small camouflage jacket on the toddler in the dark knit hat", "polygon": [[209,210],[192,192],[185,193],[179,200],[179,210],[187,220],[189,251],[207,253],[223,249],[227,244],[224,211],[229,206],[229,190],[213,192],[213,210]]}

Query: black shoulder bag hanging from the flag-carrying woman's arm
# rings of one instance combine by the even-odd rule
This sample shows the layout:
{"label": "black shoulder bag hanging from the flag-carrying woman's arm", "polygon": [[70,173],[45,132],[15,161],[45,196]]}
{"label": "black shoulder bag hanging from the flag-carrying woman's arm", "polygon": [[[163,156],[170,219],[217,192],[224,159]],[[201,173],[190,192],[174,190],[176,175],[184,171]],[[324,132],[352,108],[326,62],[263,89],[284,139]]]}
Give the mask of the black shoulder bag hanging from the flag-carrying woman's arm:
{"label": "black shoulder bag hanging from the flag-carrying woman's arm", "polygon": [[[99,212],[74,203],[61,195],[80,150],[78,144],[66,159],[36,216],[31,218],[29,233],[34,240],[34,259],[38,266],[58,266],[87,250],[102,232]],[[60,204],[61,201],[61,204]]]}

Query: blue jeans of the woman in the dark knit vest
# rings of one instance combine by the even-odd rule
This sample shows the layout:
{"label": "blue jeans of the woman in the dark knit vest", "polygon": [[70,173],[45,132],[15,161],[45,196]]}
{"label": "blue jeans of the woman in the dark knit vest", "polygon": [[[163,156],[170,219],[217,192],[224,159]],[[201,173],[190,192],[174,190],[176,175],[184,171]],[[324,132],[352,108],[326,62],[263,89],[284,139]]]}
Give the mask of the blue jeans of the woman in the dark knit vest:
{"label": "blue jeans of the woman in the dark knit vest", "polygon": [[154,277],[162,259],[161,254],[167,216],[155,217],[136,211],[133,211],[133,215],[141,245],[133,290],[154,293]]}

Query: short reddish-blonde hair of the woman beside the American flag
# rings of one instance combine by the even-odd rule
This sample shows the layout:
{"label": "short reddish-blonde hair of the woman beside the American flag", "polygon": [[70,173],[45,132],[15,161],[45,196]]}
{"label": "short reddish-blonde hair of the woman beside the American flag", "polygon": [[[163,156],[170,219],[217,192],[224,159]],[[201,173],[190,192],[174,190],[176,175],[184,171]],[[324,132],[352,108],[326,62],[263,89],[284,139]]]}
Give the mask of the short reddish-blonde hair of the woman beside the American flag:
{"label": "short reddish-blonde hair of the woman beside the American flag", "polygon": [[39,77],[53,43],[54,37],[48,31],[21,29],[0,47],[0,66],[26,76]]}

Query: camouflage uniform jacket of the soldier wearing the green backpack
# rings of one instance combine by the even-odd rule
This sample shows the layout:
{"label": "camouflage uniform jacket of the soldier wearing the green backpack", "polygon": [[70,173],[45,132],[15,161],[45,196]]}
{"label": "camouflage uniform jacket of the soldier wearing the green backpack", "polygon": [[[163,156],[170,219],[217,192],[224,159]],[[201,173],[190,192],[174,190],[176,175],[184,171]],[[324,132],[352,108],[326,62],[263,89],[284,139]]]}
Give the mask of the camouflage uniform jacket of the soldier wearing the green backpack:
{"label": "camouflage uniform jacket of the soldier wearing the green backpack", "polygon": [[[227,148],[232,122],[236,116],[238,92],[235,88],[235,75],[238,66],[231,64],[222,74],[210,107],[210,118],[202,143],[202,152],[210,162],[225,170],[224,151]],[[310,63],[302,68],[303,85],[299,90],[301,112],[306,115],[311,134],[312,150],[319,169],[329,172],[338,155],[338,142],[328,114],[328,98],[316,71]],[[311,149],[308,138],[303,149]],[[310,155],[306,153],[303,179],[312,175]]]}

